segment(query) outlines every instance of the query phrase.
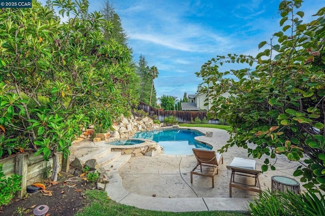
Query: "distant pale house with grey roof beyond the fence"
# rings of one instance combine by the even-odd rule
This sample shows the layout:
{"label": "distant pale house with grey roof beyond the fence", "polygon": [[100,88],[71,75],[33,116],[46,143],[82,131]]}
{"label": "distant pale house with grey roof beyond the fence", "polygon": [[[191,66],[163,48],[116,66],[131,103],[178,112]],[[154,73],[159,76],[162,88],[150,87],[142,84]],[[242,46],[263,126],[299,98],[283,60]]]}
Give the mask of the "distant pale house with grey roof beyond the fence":
{"label": "distant pale house with grey roof beyond the fence", "polygon": [[[210,110],[212,103],[211,100],[209,99],[206,101],[208,98],[207,93],[201,93],[201,86],[198,86],[198,91],[197,94],[189,94],[188,99],[189,102],[182,102],[181,103],[181,109],[182,110],[192,110],[192,111],[199,111],[199,110]],[[225,92],[222,94],[223,97],[229,97],[230,94],[228,92]],[[206,104],[206,105],[205,105]]]}

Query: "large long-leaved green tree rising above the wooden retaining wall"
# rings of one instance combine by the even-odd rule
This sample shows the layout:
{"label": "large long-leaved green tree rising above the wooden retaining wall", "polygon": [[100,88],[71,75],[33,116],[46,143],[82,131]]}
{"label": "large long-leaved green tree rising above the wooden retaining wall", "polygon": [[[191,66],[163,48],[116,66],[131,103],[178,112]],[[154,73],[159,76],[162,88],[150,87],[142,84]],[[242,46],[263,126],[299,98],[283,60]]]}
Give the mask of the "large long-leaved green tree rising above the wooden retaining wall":
{"label": "large long-leaved green tree rising above the wooden retaining wall", "polygon": [[129,50],[105,40],[109,23],[98,12],[87,14],[87,1],[53,6],[66,23],[37,2],[0,13],[0,125],[29,133],[36,155],[53,156],[55,181],[58,153],[70,154],[81,127],[107,130],[113,118],[128,114],[136,75]]}

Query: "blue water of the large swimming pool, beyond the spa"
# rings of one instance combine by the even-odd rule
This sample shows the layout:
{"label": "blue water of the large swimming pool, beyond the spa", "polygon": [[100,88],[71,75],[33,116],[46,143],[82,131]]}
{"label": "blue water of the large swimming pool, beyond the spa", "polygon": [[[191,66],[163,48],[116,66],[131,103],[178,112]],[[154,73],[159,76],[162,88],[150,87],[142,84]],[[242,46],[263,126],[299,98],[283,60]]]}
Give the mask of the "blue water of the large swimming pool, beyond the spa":
{"label": "blue water of the large swimming pool, beyond the spa", "polygon": [[153,140],[164,148],[164,154],[167,155],[192,155],[193,148],[212,149],[212,147],[194,139],[194,137],[202,135],[204,135],[204,133],[197,130],[162,129],[138,132],[133,138]]}

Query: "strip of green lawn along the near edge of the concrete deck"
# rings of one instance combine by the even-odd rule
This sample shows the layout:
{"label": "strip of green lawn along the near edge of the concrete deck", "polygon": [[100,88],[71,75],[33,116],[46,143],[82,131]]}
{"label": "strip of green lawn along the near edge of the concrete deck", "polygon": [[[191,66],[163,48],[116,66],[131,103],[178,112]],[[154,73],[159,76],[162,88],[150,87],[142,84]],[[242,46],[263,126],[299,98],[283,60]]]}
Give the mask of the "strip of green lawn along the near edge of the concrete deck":
{"label": "strip of green lawn along the near edge of the concrete deck", "polygon": [[133,206],[119,204],[107,197],[104,191],[88,190],[85,193],[88,203],[76,216],[89,215],[219,215],[219,216],[244,216],[249,215],[241,212],[230,211],[196,211],[196,212],[166,212],[139,209]]}

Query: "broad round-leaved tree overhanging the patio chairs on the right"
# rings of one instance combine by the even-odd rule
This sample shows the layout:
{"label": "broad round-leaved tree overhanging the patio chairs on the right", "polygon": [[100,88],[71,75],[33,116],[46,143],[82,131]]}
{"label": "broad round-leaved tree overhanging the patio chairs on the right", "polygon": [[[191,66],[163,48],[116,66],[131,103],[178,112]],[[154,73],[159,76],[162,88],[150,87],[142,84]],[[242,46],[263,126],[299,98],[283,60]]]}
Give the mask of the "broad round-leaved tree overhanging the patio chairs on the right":
{"label": "broad round-leaved tree overhanging the patio chairs on the right", "polygon": [[[217,56],[197,75],[213,84],[202,89],[214,101],[210,117],[225,119],[235,132],[221,151],[236,145],[254,158],[266,155],[263,171],[275,169],[274,158],[284,154],[301,162],[294,175],[302,175],[305,188],[324,190],[325,8],[315,14],[317,19],[303,23],[301,2],[280,3],[282,31],[258,45],[268,49],[256,57]],[[225,63],[243,63],[246,68],[219,71]],[[247,68],[253,64],[254,69]],[[231,96],[222,97],[225,92]],[[253,143],[253,148],[247,143]]]}

